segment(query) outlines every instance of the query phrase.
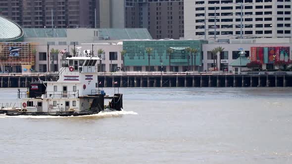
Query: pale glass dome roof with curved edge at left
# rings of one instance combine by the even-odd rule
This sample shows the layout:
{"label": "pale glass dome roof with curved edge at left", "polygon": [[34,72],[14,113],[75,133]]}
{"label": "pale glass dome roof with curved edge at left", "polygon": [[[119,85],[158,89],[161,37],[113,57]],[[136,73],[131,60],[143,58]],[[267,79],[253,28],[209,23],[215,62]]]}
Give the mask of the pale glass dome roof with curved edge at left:
{"label": "pale glass dome roof with curved edge at left", "polygon": [[0,40],[17,39],[22,36],[23,31],[18,24],[0,16]]}

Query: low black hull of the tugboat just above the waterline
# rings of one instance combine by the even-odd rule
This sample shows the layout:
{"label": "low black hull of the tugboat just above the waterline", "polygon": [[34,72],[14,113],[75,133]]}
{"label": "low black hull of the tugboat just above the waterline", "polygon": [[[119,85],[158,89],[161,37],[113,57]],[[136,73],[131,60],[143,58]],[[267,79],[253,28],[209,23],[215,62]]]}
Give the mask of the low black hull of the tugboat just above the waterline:
{"label": "low black hull of the tugboat just above the waterline", "polygon": [[22,112],[22,111],[10,111],[0,110],[0,114],[7,116],[86,116],[98,114],[99,110],[88,110],[88,111],[68,111],[68,112]]}

